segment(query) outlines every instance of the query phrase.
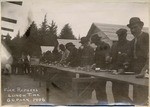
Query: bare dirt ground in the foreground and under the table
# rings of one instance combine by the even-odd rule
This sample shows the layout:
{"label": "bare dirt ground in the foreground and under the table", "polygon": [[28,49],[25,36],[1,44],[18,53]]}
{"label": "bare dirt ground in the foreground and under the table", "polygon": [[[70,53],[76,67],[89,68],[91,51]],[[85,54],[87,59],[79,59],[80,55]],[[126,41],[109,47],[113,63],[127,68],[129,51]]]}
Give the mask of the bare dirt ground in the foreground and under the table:
{"label": "bare dirt ground in the foreground and under the table", "polygon": [[[107,82],[108,103],[113,104],[112,84]],[[129,96],[132,98],[133,88],[130,86]],[[27,94],[28,93],[28,94]],[[92,98],[86,101],[74,102],[73,97],[53,85],[49,85],[49,100],[46,101],[46,83],[34,80],[29,75],[2,75],[2,105],[34,105],[34,104],[97,104],[96,93],[92,92]]]}

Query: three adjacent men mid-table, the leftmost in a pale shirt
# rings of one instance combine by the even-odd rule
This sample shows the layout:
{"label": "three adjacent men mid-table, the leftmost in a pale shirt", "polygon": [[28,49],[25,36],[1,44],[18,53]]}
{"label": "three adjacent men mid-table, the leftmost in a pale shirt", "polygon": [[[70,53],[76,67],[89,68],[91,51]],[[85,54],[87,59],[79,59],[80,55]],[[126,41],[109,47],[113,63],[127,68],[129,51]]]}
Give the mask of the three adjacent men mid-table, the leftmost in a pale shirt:
{"label": "three adjacent men mid-table, the leftmost in a pale shirt", "polygon": [[81,38],[79,49],[72,42],[66,45],[60,44],[59,49],[62,52],[60,64],[71,67],[85,67],[93,63],[94,49],[90,46],[86,37]]}

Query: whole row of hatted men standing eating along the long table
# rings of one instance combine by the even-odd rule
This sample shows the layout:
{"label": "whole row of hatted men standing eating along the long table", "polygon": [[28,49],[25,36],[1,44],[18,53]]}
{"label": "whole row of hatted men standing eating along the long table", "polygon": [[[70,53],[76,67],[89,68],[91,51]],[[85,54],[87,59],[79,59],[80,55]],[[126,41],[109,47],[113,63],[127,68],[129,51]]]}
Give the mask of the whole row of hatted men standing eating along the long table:
{"label": "whole row of hatted men standing eating along the long table", "polygon": [[[47,51],[43,54],[41,62],[48,64],[59,64],[61,66],[81,67],[88,69],[109,69],[117,74],[134,72],[133,78],[143,78],[148,72],[149,34],[142,31],[144,23],[138,17],[132,17],[127,25],[134,36],[128,41],[127,30],[120,28],[116,31],[118,41],[111,47],[98,34],[91,38],[82,37],[79,49],[75,44],[69,42],[60,44],[59,50]],[[90,44],[95,44],[96,49]],[[29,71],[28,59],[25,59],[25,68]],[[106,80],[98,79],[94,83],[96,97],[99,103],[107,104]],[[148,88],[144,86],[133,86],[133,99],[130,99],[129,84],[112,81],[112,93],[115,103],[131,103],[146,105],[148,102]],[[91,92],[89,92],[89,95]]]}

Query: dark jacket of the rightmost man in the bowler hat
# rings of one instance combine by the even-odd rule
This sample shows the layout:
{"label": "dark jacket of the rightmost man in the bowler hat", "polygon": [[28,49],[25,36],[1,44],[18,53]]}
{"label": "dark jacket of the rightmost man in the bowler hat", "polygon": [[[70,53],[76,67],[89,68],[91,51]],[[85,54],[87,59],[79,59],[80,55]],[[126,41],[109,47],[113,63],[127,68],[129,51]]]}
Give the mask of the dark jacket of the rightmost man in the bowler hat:
{"label": "dark jacket of the rightmost man in the bowler hat", "polygon": [[131,55],[132,59],[131,67],[132,70],[136,73],[140,73],[142,68],[145,66],[146,61],[148,59],[149,52],[149,34],[143,32],[138,38],[136,43],[136,56],[134,58],[134,42],[135,39],[131,41]]}

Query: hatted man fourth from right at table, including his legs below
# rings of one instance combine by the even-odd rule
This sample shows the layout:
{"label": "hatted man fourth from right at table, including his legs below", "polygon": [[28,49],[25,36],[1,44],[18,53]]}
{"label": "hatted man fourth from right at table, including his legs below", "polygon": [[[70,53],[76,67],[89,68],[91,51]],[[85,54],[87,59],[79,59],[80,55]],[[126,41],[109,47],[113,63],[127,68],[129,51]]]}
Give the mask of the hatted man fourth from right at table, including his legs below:
{"label": "hatted man fourth from right at table, including his legs below", "polygon": [[[79,64],[80,64],[79,66],[82,68],[86,68],[86,71],[89,71],[91,68],[91,65],[93,64],[94,49],[90,46],[89,39],[87,37],[82,37],[79,43],[81,43],[81,46],[79,47],[79,50],[78,50],[78,59],[79,59]],[[80,78],[84,78],[85,80],[86,78],[89,79],[90,76],[80,74]],[[82,100],[91,99],[92,91],[93,91],[92,85],[93,84],[89,81],[81,82],[80,84],[78,84],[79,93],[83,92],[88,87],[86,89],[86,94],[82,95]]]}

